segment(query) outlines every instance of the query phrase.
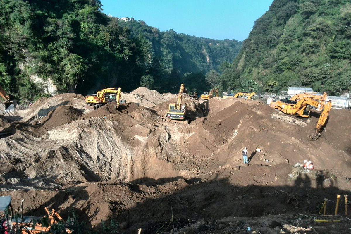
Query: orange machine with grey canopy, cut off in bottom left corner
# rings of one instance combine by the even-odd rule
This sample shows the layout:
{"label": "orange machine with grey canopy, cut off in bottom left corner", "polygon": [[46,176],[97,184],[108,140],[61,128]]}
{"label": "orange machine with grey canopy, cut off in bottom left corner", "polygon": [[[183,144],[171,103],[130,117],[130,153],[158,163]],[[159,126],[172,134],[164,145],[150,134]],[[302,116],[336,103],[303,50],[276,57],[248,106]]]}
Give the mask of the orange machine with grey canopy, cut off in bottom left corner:
{"label": "orange machine with grey canopy, cut off in bottom left corner", "polygon": [[[16,215],[13,212],[11,205],[11,196],[0,196],[0,212],[3,213],[0,215],[0,233],[1,234],[10,234],[10,233],[21,233],[21,234],[37,234],[42,232],[48,232],[51,229],[51,225],[58,223],[55,217],[60,221],[62,220],[61,216],[52,209],[49,211],[45,207],[47,213],[44,217],[36,216],[24,216],[23,215],[23,201],[21,201],[21,215]],[[40,221],[37,222],[37,221]],[[44,227],[42,222],[47,222]],[[71,230],[66,228],[67,233],[72,233]]]}

